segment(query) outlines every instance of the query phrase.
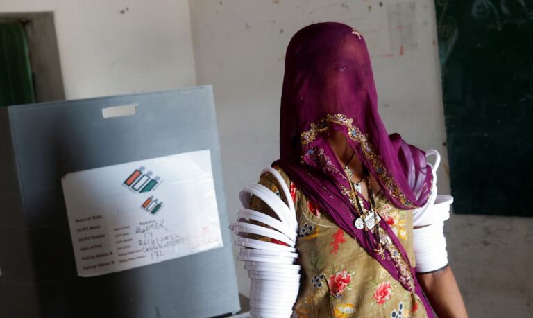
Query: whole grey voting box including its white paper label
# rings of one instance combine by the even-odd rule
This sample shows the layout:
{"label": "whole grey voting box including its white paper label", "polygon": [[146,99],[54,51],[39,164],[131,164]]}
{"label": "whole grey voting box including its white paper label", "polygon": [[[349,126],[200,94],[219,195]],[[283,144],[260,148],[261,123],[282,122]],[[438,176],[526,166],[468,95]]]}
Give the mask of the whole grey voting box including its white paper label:
{"label": "whole grey voting box including its white paper label", "polygon": [[0,108],[0,317],[239,310],[210,86]]}

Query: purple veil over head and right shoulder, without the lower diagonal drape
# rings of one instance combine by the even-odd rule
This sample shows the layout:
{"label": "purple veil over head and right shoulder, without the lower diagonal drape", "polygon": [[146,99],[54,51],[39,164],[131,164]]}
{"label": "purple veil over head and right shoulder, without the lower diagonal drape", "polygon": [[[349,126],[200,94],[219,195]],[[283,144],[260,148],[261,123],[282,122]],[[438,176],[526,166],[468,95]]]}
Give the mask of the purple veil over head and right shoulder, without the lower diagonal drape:
{"label": "purple veil over head and right shoulder, without the lower diagonal drape", "polygon": [[[364,37],[335,22],[302,28],[285,55],[280,158],[321,170],[339,189],[349,187],[326,140],[332,132],[341,132],[395,206],[423,205],[432,182],[425,155],[398,134],[389,136],[377,105]],[[421,182],[415,184],[414,179]]]}

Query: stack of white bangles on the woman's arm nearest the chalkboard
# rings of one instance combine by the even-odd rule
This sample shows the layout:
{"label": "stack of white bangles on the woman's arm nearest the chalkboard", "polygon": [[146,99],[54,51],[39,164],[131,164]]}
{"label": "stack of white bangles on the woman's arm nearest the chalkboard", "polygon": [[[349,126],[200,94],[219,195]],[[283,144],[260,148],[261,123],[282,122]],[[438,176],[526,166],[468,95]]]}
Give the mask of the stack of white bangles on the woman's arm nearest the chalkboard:
{"label": "stack of white bangles on the woman's arm nearest the chalkboard", "polygon": [[441,156],[437,150],[428,150],[426,156],[437,157],[432,165],[433,188],[430,199],[425,206],[413,211],[413,249],[415,271],[429,273],[441,270],[448,265],[446,238],[444,237],[444,221],[450,218],[450,205],[453,197],[437,195],[437,168]]}

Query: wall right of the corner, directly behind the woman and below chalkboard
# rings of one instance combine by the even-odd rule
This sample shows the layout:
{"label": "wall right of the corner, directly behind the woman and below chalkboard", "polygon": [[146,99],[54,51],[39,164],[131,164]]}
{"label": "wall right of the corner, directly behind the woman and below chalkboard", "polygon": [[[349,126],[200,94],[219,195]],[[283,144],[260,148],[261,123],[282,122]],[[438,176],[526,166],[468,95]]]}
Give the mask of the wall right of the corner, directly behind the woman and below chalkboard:
{"label": "wall right of the corner, directly behind the woman and below chalkboard", "polygon": [[[344,22],[365,35],[387,129],[439,150],[439,193],[450,193],[433,1],[194,0],[191,10],[198,83],[214,87],[230,219],[240,188],[278,158],[289,39],[318,21]],[[532,221],[452,215],[446,223],[450,263],[471,317],[532,313],[533,281],[523,261],[533,259]],[[236,263],[239,290],[248,294],[248,276]]]}

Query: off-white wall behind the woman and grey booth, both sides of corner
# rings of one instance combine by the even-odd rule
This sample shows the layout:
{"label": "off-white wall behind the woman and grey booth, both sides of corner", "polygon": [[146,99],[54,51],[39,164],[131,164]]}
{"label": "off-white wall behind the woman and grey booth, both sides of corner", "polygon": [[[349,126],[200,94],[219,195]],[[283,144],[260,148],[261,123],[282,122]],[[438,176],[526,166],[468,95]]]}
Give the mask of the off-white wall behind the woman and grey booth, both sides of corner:
{"label": "off-white wall behind the woman and grey booth, both sides of corner", "polygon": [[[198,84],[212,84],[233,218],[239,189],[278,158],[289,39],[317,21],[364,33],[389,132],[443,154],[439,193],[449,193],[433,1],[414,1],[414,42],[389,25],[387,12],[406,2],[413,1],[192,0],[189,16],[186,0],[1,0],[0,14],[54,12],[68,99],[195,85],[196,73]],[[533,220],[452,215],[446,233],[471,317],[533,316]],[[237,271],[248,294],[242,264]]]}

